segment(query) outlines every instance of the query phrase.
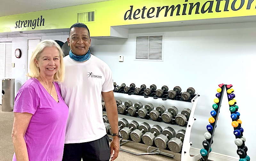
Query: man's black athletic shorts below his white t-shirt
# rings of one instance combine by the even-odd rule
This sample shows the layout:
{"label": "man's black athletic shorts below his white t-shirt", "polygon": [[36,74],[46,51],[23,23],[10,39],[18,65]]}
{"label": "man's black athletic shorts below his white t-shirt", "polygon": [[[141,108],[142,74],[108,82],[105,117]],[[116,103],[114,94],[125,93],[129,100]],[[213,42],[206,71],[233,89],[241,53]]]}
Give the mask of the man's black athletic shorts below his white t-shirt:
{"label": "man's black athletic shorts below his white t-shirt", "polygon": [[82,158],[83,161],[108,161],[110,159],[108,135],[92,142],[64,144],[62,161],[81,161]]}

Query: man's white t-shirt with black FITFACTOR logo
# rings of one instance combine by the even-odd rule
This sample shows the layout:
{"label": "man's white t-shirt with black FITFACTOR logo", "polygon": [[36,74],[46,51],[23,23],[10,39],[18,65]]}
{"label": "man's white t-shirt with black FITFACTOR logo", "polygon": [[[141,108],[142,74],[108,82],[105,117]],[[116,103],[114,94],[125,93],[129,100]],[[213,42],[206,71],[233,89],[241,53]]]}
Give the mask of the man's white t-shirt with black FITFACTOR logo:
{"label": "man's white t-shirt with black FITFACTOR logo", "polygon": [[90,142],[106,135],[102,119],[101,92],[114,89],[109,66],[91,55],[85,62],[64,57],[65,79],[61,96],[69,108],[65,143]]}

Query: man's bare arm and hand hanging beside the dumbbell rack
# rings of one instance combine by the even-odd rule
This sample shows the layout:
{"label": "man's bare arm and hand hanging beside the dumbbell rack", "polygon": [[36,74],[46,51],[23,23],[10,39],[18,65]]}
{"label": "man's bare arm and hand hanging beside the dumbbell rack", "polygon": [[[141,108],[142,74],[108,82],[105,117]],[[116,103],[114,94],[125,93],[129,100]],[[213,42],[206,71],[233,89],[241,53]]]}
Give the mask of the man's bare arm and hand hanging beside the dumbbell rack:
{"label": "man's bare arm and hand hanging beside the dumbbell rack", "polygon": [[[112,133],[118,133],[118,113],[117,113],[117,106],[116,106],[116,99],[114,97],[114,92],[101,92],[102,98],[105,102],[105,107],[107,111],[108,121],[112,130]],[[119,153],[119,137],[113,136],[113,140],[110,143],[110,150],[111,150],[111,161],[115,160]],[[113,150],[115,151],[113,153]],[[114,156],[112,156],[114,154]]]}

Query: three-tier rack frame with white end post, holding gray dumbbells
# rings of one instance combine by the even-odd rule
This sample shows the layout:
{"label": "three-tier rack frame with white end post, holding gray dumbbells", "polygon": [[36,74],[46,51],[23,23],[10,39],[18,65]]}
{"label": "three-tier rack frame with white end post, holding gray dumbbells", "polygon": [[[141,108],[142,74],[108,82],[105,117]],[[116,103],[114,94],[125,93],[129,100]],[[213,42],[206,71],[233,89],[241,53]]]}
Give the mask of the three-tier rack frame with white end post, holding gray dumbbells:
{"label": "three-tier rack frame with white end post, holding gray dumbbells", "polygon": [[[116,87],[118,87],[118,86],[116,86]],[[156,97],[156,90],[153,90],[150,95],[145,95],[144,91],[141,91],[139,94],[134,94],[134,90],[135,90],[135,88],[131,88],[126,93],[126,92],[124,92],[124,88],[121,88],[119,91],[114,90],[114,92],[128,94],[128,95],[144,96],[145,98],[148,98],[148,97],[152,97],[153,99],[160,98],[163,101],[165,101],[165,100],[176,100],[176,101],[188,102],[188,103],[193,104],[192,108],[191,108],[191,113],[190,113],[189,119],[188,119],[188,121],[186,122],[186,124],[184,126],[178,125],[175,122],[175,119],[172,119],[172,121],[170,123],[166,123],[166,122],[162,121],[162,119],[157,119],[157,120],[154,120],[154,121],[163,122],[163,123],[166,123],[166,124],[176,125],[176,126],[180,126],[180,127],[186,127],[187,129],[186,129],[186,133],[185,133],[185,136],[184,136],[184,141],[183,141],[183,146],[182,146],[182,151],[181,151],[181,161],[188,161],[188,160],[197,161],[198,159],[200,159],[201,155],[196,155],[196,156],[191,157],[190,154],[189,154],[189,150],[190,150],[190,147],[192,145],[192,142],[190,142],[190,133],[191,133],[192,125],[194,124],[194,122],[196,120],[196,118],[194,117],[194,113],[195,113],[198,97],[200,95],[199,94],[191,95],[190,98],[187,101],[185,101],[181,98],[181,93],[177,93],[177,96],[174,99],[171,99],[171,98],[168,97],[168,92],[167,91],[164,91],[164,94],[161,97]],[[136,113],[138,113],[138,111]],[[130,116],[127,113],[124,114],[124,115]],[[149,114],[147,114],[147,115],[149,115]],[[140,118],[138,115],[136,115],[135,117]],[[145,119],[145,118],[140,118],[140,119]],[[159,116],[159,118],[161,118],[161,116]],[[149,117],[148,120],[152,120],[152,119]],[[168,157],[172,157],[172,158],[174,157],[174,155],[164,153],[156,147],[153,147],[153,150],[149,150],[149,148],[151,148],[152,146],[148,147],[147,153],[141,153],[141,154],[136,154],[136,153],[133,153],[133,152],[130,152],[130,151],[127,151],[127,150],[123,150],[121,148],[121,145],[123,145],[124,143],[129,142],[129,141],[130,140],[120,139],[120,150],[131,153],[131,154],[134,154],[134,155],[162,154],[162,155],[165,155],[165,156],[168,156]]]}

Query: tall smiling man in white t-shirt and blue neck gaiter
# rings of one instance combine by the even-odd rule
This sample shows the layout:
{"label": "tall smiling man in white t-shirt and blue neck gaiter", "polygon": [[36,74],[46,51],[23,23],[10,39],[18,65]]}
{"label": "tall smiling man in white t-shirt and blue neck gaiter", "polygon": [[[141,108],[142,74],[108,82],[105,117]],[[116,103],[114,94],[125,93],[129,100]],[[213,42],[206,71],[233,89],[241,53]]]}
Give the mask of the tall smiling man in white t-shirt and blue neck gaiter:
{"label": "tall smiling man in white t-shirt and blue neck gaiter", "polygon": [[[91,55],[90,32],[83,23],[69,29],[69,56],[64,57],[61,95],[69,107],[62,161],[111,160],[119,152],[118,115],[109,66]],[[102,119],[101,96],[113,131],[110,143]],[[114,150],[114,151],[113,151]]]}

